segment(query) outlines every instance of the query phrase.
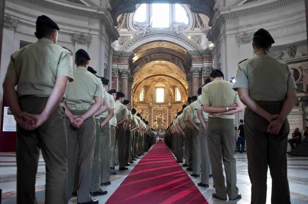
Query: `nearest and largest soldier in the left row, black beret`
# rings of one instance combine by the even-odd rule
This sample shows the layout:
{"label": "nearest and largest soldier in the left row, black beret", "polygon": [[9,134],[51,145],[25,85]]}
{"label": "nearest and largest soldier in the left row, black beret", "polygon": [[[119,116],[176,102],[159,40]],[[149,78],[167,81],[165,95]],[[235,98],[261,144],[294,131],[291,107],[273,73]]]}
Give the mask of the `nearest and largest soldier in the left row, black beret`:
{"label": "nearest and largest soldier in the left row, black beret", "polygon": [[49,17],[39,16],[34,33],[38,41],[11,55],[3,82],[18,124],[18,204],[36,203],[40,149],[46,164],[45,203],[67,203],[67,134],[60,102],[68,80],[73,80],[73,67],[71,51],[56,45],[58,30]]}

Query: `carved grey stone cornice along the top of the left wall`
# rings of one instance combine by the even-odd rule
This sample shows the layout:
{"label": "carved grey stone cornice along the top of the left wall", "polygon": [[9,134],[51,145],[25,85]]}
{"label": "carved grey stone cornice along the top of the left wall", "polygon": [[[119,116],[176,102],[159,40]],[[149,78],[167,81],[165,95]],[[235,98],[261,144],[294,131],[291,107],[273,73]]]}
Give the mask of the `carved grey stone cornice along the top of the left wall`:
{"label": "carved grey stone cornice along the top of the left wall", "polygon": [[[112,40],[114,41],[118,40],[118,38],[120,37],[119,32],[113,26],[113,20],[112,20],[110,13],[107,11],[107,8],[97,8],[98,9],[97,12],[92,12],[92,11],[86,11],[86,10],[81,10],[77,8],[71,8],[68,6],[56,4],[53,2],[48,2],[45,0],[21,0],[21,1],[25,1],[25,2],[28,2],[31,4],[37,5],[37,6],[42,6],[47,9],[56,10],[56,11],[63,12],[63,13],[69,13],[72,15],[78,15],[78,16],[98,19],[102,23],[105,23],[107,31],[110,34]],[[83,5],[80,5],[80,6],[83,6]]]}

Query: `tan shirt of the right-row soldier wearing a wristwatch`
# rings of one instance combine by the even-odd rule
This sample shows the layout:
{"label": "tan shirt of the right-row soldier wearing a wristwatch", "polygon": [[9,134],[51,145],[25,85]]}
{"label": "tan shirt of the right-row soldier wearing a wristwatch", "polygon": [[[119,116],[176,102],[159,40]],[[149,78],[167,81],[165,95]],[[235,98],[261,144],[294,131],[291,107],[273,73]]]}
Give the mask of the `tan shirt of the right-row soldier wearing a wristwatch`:
{"label": "tan shirt of the right-row soldier wearing a wristwatch", "polygon": [[[232,86],[232,83],[223,80],[221,77],[215,78],[214,81],[202,87],[201,105],[227,107],[241,102],[237,91],[233,90]],[[234,119],[234,114],[219,116],[209,114],[209,117]]]}

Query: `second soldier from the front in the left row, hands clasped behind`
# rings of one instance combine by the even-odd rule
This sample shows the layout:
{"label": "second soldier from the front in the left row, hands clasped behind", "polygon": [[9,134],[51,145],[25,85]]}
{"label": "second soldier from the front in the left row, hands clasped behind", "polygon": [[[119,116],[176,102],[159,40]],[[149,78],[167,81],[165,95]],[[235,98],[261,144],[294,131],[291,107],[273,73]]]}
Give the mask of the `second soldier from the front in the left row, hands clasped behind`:
{"label": "second soldier from the front in the left row, hands clasped behind", "polygon": [[[61,103],[65,108],[68,141],[68,200],[72,193],[76,146],[79,144],[78,203],[98,203],[97,200],[91,199],[89,190],[96,132],[94,114],[103,104],[103,84],[98,77],[87,71],[89,60],[90,56],[86,51],[77,50],[75,53],[77,68],[73,71],[75,80],[68,85],[67,98]],[[99,190],[98,194],[106,192]]]}

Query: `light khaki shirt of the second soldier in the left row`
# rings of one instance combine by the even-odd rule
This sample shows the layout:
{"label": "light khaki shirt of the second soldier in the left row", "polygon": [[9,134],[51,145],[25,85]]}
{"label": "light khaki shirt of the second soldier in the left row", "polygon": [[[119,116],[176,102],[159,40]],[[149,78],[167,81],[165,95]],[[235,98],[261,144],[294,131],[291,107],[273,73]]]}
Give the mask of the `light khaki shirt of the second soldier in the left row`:
{"label": "light khaki shirt of the second soldier in the left row", "polygon": [[85,67],[73,71],[74,81],[68,84],[65,103],[70,110],[88,110],[94,97],[103,97],[103,83]]}

